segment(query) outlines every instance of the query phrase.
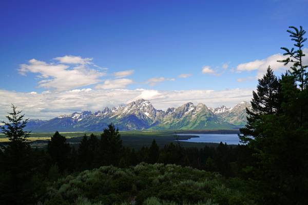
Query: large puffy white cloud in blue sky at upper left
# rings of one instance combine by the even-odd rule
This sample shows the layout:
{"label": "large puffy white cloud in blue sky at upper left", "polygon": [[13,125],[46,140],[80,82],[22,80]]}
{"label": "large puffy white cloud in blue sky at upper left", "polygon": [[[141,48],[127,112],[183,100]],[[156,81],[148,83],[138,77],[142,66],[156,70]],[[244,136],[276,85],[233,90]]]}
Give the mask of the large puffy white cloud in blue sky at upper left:
{"label": "large puffy white cloud in blue sky at upper left", "polygon": [[[88,86],[99,83],[100,77],[104,72],[89,68],[90,58],[81,58],[79,56],[64,56],[55,58],[60,63],[46,63],[44,61],[31,59],[28,64],[22,64],[18,72],[22,75],[27,73],[38,73],[38,87],[54,88],[57,90],[69,90],[82,86]],[[70,67],[67,64],[74,64]]]}

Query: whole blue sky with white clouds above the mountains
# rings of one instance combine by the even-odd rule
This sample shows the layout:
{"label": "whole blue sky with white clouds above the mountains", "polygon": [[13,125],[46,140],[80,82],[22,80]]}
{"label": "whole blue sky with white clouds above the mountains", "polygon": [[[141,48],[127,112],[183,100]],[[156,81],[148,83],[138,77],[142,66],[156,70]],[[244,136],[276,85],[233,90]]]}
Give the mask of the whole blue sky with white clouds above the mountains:
{"label": "whole blue sky with white clouds above the mountains", "polygon": [[[0,119],[50,119],[149,99],[157,109],[249,101],[286,67],[307,0],[0,2]],[[305,47],[308,48],[308,47]],[[304,50],[308,53],[308,49]],[[306,59],[305,59],[306,60]]]}

